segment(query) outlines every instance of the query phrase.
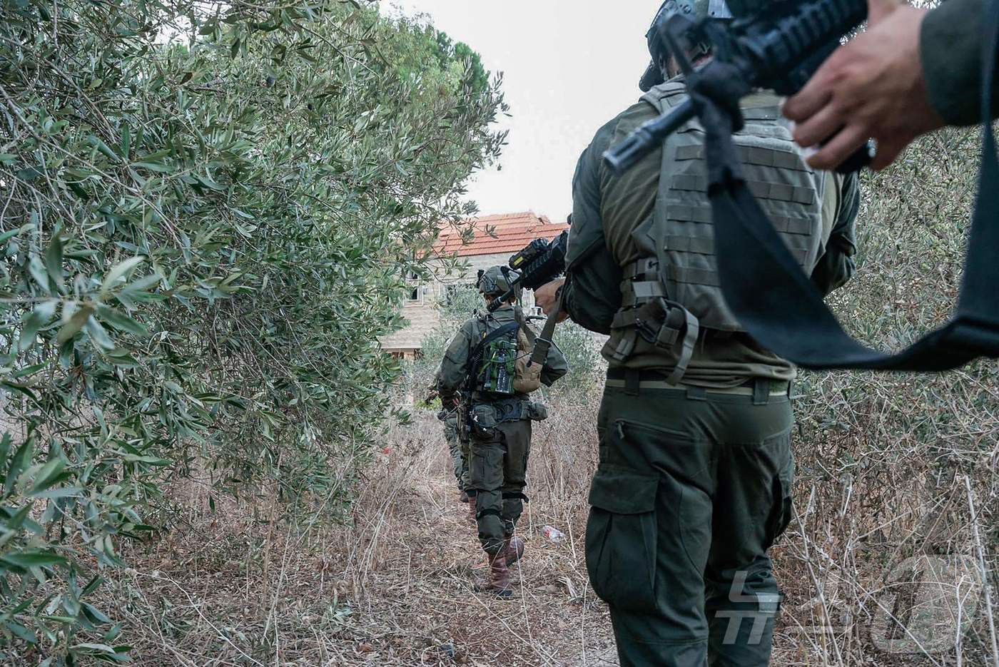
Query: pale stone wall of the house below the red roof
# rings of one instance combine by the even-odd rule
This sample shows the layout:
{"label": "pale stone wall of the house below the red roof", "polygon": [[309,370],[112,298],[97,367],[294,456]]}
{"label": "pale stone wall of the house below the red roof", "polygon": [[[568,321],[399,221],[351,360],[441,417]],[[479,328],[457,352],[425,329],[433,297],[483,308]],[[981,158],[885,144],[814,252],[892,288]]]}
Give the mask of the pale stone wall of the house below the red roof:
{"label": "pale stone wall of the house below the red roof", "polygon": [[[419,286],[416,301],[407,301],[403,305],[403,317],[409,322],[406,329],[382,338],[382,347],[386,351],[410,356],[423,346],[423,339],[431,333],[440,322],[436,305],[443,301],[450,285],[474,285],[479,270],[503,265],[509,261],[510,253],[500,255],[480,255],[462,258],[468,263],[468,270],[462,276],[441,277],[428,285]],[[524,306],[533,307],[534,296],[529,292],[523,295]],[[472,315],[471,313],[469,314]]]}

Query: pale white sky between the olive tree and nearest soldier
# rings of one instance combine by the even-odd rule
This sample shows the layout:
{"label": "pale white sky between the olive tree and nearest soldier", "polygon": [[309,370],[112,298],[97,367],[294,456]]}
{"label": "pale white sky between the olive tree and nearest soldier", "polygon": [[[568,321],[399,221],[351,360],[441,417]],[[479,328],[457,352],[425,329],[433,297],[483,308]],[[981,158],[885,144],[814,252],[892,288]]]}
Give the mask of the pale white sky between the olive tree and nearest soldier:
{"label": "pale white sky between the olive tree and nearest soldier", "polygon": [[[384,5],[389,5],[383,0]],[[503,73],[510,118],[496,168],[474,177],[483,215],[531,210],[563,222],[579,153],[640,95],[645,30],[658,0],[393,0],[426,13]]]}

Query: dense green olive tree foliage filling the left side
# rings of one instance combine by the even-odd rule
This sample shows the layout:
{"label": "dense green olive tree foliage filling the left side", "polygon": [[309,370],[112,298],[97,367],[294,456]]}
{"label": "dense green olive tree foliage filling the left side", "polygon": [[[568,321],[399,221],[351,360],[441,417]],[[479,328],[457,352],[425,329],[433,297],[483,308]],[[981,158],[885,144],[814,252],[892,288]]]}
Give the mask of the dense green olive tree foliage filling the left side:
{"label": "dense green olive tree foliage filling the left side", "polygon": [[502,101],[354,0],[0,12],[0,657],[123,660],[86,596],[166,480],[346,502]]}

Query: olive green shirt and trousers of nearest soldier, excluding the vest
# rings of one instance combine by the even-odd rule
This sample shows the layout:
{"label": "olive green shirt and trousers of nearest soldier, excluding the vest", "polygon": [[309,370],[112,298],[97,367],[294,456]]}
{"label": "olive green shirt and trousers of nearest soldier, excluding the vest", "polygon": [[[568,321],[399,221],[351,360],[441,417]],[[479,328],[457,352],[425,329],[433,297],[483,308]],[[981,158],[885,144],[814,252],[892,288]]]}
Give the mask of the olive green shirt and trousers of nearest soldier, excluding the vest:
{"label": "olive green shirt and trousers of nearest soldier, excluding the vest", "polygon": [[[790,134],[776,127],[776,103],[760,94],[743,109],[760,132],[787,144],[791,153],[784,157],[800,162]],[[745,333],[701,328],[680,383],[669,383],[683,332],[670,345],[657,344],[662,338],[656,333],[665,326],[653,324],[630,338],[620,329],[625,293],[632,291],[633,298],[637,289],[625,268],[654,253],[646,240],[660,179],[696,189],[689,173],[663,172],[668,161],[662,150],[620,177],[601,164],[608,146],[656,114],[643,101],[601,128],[573,179],[563,304],[575,322],[612,334],[604,348],[609,370],[597,420],[599,466],[589,496],[586,564],[594,590],[609,604],[622,665],[766,665],[781,597],[766,550],[790,518],[795,371]],[[696,153],[695,146],[682,148]],[[769,164],[771,182],[786,183],[781,179],[787,175],[773,169],[778,163]],[[807,170],[803,163],[797,169],[799,175]],[[858,192],[853,178],[809,178],[821,184],[804,193],[815,196],[812,215],[820,228],[813,233],[819,247],[809,267],[827,293],[854,270]],[[798,197],[787,192],[789,202]],[[793,210],[793,202],[773,205]],[[685,215],[681,220],[690,222],[679,229],[709,223],[703,210]],[[696,246],[689,238],[669,237],[667,243]],[[698,252],[711,252],[700,247]]]}

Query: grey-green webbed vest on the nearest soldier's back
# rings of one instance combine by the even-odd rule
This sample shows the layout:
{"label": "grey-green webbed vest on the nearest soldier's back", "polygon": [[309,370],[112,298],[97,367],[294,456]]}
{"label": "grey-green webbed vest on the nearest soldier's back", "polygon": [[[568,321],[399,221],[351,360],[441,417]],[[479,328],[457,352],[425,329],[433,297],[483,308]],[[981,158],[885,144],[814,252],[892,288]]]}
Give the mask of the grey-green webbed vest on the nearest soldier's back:
{"label": "grey-green webbed vest on the nearest soldier's back", "polygon": [[[661,113],[686,100],[682,86],[681,81],[667,83],[642,99]],[[746,98],[742,115],[745,127],[733,142],[743,164],[746,187],[774,221],[795,262],[810,274],[824,246],[820,214],[826,177],[811,170],[801,158],[773,95]],[[649,231],[661,293],[637,286],[633,298],[623,293],[624,303],[639,305],[647,297],[668,298],[689,311],[701,328],[741,332],[720,290],[703,140],[703,128],[692,120],[663,145]]]}

